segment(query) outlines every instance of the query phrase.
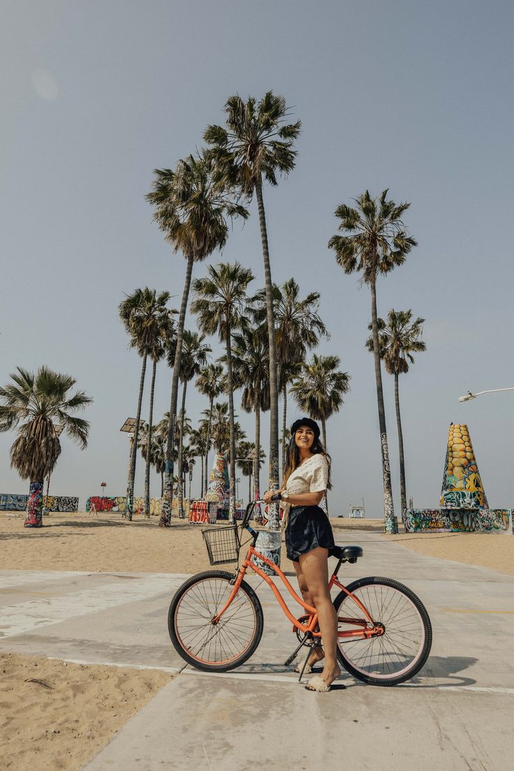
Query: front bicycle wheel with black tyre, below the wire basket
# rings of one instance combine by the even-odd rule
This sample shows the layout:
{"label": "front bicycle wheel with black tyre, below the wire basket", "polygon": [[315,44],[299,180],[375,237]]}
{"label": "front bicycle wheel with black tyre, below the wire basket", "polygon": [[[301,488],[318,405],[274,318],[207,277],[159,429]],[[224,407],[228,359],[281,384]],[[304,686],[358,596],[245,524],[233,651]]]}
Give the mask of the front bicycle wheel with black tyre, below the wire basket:
{"label": "front bicycle wheel with black tyre, below the wire basket", "polygon": [[233,590],[233,574],[205,571],[176,591],[168,613],[168,631],[184,661],[205,672],[228,672],[250,658],[259,645],[264,616],[259,598],[243,581],[220,621]]}

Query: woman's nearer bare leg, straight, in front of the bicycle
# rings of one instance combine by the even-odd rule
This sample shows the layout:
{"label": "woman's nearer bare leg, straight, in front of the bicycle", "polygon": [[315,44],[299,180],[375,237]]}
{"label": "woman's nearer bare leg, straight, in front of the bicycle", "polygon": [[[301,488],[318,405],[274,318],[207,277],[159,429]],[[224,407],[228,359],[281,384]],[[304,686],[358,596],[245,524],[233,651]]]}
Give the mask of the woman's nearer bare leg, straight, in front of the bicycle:
{"label": "woman's nearer bare leg, straight, in front of the bicycle", "polygon": [[317,610],[317,619],[324,647],[324,668],[321,678],[330,685],[339,675],[338,665],[338,617],[328,591],[328,549],[317,547],[299,557],[301,573],[307,584],[308,594]]}

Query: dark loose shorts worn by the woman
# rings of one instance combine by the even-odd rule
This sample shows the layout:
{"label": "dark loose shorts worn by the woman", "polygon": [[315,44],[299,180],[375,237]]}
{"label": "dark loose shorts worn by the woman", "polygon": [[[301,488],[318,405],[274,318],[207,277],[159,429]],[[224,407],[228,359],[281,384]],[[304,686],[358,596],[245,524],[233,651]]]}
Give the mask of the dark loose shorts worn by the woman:
{"label": "dark loose shorts worn by the woman", "polygon": [[300,554],[307,554],[317,547],[331,549],[334,534],[326,513],[319,506],[293,506],[286,527],[287,557],[298,561]]}

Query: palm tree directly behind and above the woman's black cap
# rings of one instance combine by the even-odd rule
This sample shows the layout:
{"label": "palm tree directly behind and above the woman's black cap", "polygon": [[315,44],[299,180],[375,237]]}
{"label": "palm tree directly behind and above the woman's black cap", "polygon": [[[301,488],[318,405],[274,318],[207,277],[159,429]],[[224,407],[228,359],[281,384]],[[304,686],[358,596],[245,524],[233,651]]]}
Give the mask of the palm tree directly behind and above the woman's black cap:
{"label": "palm tree directly behind and above the woman's black cap", "polygon": [[327,446],[327,420],[343,405],[343,396],[350,390],[351,375],[339,372],[339,356],[316,353],[311,364],[304,364],[299,378],[291,387],[297,405],[314,420],[321,420],[323,444]]}

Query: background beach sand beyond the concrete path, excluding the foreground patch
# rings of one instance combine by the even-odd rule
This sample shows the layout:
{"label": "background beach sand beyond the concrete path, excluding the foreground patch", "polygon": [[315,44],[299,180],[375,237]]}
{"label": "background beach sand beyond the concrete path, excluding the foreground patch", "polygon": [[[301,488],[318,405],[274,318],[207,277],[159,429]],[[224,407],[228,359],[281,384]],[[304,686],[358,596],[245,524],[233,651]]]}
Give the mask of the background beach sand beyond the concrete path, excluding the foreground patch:
{"label": "background beach sand beyond the concrete path, excluding the foreground patch", "polygon": [[[120,514],[52,513],[40,530],[25,529],[22,513],[0,514],[0,569],[52,571],[109,571],[133,573],[197,573],[211,565],[203,544],[203,525],[136,515],[133,522]],[[485,533],[383,533],[382,520],[332,519],[338,534],[373,530],[385,540],[418,554],[465,562],[514,575],[514,537]],[[213,527],[219,527],[213,526]],[[401,528],[402,529],[402,528]],[[282,549],[281,566],[294,573]]]}

